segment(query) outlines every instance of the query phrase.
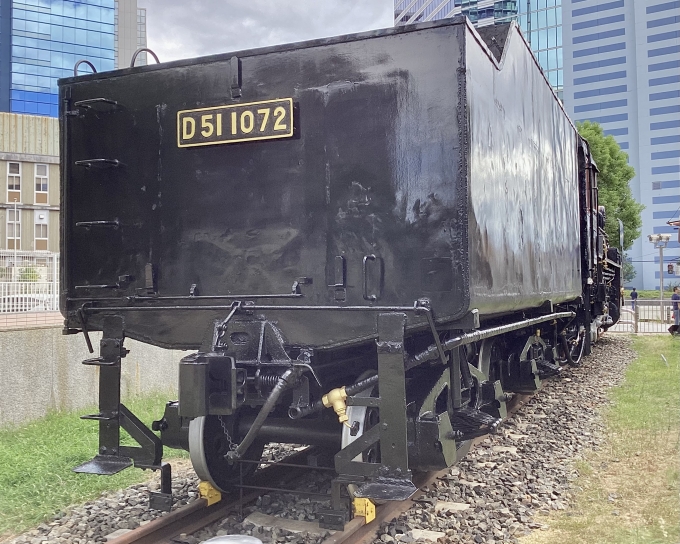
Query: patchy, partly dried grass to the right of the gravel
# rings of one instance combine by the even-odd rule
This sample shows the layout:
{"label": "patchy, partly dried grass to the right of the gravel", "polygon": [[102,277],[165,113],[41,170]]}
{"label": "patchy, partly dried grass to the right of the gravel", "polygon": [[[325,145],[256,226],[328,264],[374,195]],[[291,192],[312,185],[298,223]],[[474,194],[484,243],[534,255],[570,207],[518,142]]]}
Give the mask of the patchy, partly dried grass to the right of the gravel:
{"label": "patchy, partly dried grass to the right of the gravel", "polygon": [[610,395],[607,442],[576,464],[572,506],[541,518],[550,529],[523,544],[680,542],[680,338],[636,337],[633,347]]}

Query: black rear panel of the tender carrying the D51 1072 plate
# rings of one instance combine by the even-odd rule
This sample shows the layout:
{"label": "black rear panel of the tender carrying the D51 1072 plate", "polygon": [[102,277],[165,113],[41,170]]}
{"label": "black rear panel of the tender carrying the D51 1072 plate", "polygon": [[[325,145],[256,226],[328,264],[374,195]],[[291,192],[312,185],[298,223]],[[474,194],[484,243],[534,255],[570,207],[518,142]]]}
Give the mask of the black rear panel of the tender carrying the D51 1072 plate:
{"label": "black rear panel of the tender carrying the D51 1072 plate", "polygon": [[[243,54],[240,66],[225,56],[64,81],[70,102],[62,106],[71,110],[97,97],[119,104],[62,111],[71,325],[79,325],[73,312],[83,301],[127,304],[150,282],[161,296],[189,295],[192,285],[200,295],[280,295],[300,278],[312,281],[302,285],[303,299],[261,302],[411,306],[427,296],[438,315],[462,315],[466,172],[457,109],[465,31],[459,21]],[[237,66],[241,96],[232,98]],[[266,139],[251,138],[272,100],[279,102],[268,122],[282,107],[285,133],[266,126]],[[118,162],[75,166],[92,159]],[[117,226],[76,226],[96,221]],[[194,348],[226,313],[124,317],[128,336]],[[376,326],[371,313],[267,317],[296,344],[365,338]],[[101,327],[96,314],[89,326]]]}

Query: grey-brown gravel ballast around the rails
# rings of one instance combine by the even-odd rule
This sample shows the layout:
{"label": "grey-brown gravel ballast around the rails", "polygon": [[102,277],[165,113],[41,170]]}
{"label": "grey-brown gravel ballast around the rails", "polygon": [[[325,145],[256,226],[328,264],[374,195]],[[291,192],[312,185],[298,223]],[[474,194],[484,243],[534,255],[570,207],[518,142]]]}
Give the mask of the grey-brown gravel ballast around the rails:
{"label": "grey-brown gravel ballast around the rails", "polygon": [[[543,389],[504,422],[496,435],[471,450],[408,512],[384,524],[376,542],[424,542],[437,537],[442,542],[516,542],[518,537],[540,529],[541,523],[534,519],[537,513],[563,510],[569,504],[573,492],[570,482],[577,476],[574,461],[602,444],[601,410],[608,403],[607,391],[621,382],[634,355],[627,337],[602,338],[581,367],[565,367],[562,377],[544,382]],[[272,444],[265,454],[276,458],[291,449]],[[190,467],[173,466],[173,470],[176,509],[196,500],[198,480]],[[324,493],[329,480],[324,473],[310,471],[305,482],[298,485]],[[158,487],[153,480],[107,494],[9,542],[105,542],[114,531],[134,529],[164,515],[148,509],[148,491]],[[293,494],[263,494],[256,506],[244,509],[244,516],[258,511],[316,521],[315,512],[323,507],[328,503]],[[264,543],[311,544],[323,541],[327,533],[311,535],[256,527],[230,516],[177,541],[198,544],[222,534],[252,534]]]}

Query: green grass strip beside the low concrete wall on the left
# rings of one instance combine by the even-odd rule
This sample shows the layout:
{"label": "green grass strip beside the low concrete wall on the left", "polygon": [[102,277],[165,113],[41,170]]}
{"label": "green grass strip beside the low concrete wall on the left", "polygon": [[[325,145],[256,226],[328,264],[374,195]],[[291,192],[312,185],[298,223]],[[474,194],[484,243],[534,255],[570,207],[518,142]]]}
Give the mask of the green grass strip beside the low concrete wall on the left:
{"label": "green grass strip beside the low concrete wall on the left", "polygon": [[[156,394],[130,399],[125,404],[150,426],[151,421],[163,415],[167,400],[167,394]],[[151,477],[150,472],[135,468],[114,476],[72,471],[97,453],[98,423],[79,418],[96,411],[90,408],[78,413],[52,413],[21,427],[0,429],[0,537],[25,531],[104,491],[122,489]],[[177,450],[165,453],[181,456]]]}

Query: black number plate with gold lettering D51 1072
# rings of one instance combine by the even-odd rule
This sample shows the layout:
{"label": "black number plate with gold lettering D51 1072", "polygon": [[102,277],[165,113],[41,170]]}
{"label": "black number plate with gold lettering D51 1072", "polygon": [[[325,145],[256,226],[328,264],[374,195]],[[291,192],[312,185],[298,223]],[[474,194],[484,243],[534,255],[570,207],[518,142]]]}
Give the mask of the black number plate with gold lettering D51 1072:
{"label": "black number plate with gold lettering D51 1072", "polygon": [[177,146],[235,144],[293,136],[293,99],[177,112]]}

